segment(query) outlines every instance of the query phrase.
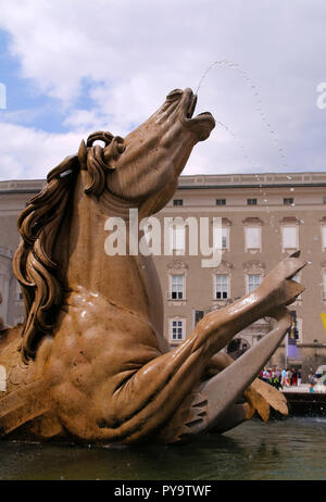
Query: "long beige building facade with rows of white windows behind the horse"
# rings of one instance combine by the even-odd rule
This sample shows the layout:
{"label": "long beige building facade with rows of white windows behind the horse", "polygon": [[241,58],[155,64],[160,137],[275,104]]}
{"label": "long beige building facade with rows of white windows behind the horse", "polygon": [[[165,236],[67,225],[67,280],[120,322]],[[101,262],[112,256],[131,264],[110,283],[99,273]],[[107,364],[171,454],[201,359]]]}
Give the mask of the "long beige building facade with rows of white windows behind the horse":
{"label": "long beige building facade with rows of white windows behind the horse", "polygon": [[[0,181],[0,317],[8,325],[21,323],[24,315],[11,268],[20,240],[16,219],[42,186],[43,180]],[[162,243],[161,254],[154,256],[163,292],[164,336],[171,347],[184,341],[205,313],[251,292],[280,260],[300,249],[308,266],[296,279],[305,291],[290,306],[292,329],[268,364],[300,367],[304,379],[326,363],[321,315],[326,313],[326,173],[180,176],[173,200],[155,216],[161,228],[165,221],[179,218],[172,226],[168,253]],[[197,254],[190,250],[189,225],[178,223],[189,218],[198,224]],[[201,253],[204,219],[210,246],[214,221],[221,225],[221,260],[209,266],[203,266]],[[252,324],[238,334],[238,350],[258,343],[269,329],[268,318]]]}

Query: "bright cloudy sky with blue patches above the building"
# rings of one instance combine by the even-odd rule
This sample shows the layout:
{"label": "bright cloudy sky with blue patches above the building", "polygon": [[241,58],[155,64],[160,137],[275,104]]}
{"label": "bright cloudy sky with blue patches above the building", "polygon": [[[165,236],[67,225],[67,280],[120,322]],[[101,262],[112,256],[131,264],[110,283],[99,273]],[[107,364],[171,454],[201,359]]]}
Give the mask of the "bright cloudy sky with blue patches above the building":
{"label": "bright cloudy sky with blue patches above the building", "polygon": [[0,0],[0,180],[186,87],[216,127],[184,174],[326,172],[325,26],[325,0]]}

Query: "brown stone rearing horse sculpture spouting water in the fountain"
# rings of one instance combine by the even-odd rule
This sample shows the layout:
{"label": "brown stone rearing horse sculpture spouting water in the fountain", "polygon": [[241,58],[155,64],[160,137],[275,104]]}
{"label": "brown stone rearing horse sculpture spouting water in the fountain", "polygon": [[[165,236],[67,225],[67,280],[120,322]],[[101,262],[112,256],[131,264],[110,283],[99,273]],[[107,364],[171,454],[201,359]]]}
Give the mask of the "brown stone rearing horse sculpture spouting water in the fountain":
{"label": "brown stone rearing horse sculpture spouting water in the fountain", "polygon": [[[151,256],[104,252],[108,217],[128,227],[130,208],[140,217],[160,211],[192,148],[210,136],[214,118],[193,117],[196,100],[176,89],[125,139],[95,133],[21,214],[13,269],[25,321],[0,329],[2,437],[170,443],[230,429],[277,401],[255,377],[291,325],[286,305],[303,291],[291,280],[305,265],[299,253],[170,350]],[[230,360],[222,350],[264,316],[274,328]]]}

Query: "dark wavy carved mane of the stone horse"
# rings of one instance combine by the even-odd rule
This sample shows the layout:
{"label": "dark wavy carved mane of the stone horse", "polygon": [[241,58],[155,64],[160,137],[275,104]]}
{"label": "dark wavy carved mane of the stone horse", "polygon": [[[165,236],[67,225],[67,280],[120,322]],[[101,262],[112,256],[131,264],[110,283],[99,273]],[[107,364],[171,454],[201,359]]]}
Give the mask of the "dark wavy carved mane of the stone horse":
{"label": "dark wavy carved mane of the stone horse", "polygon": [[13,272],[18,280],[25,305],[21,352],[25,363],[35,359],[40,340],[52,332],[62,303],[63,283],[60,263],[53,261],[57,237],[70,216],[72,194],[79,170],[90,178],[85,193],[99,197],[105,188],[105,172],[110,158],[103,160],[104,149],[96,140],[110,145],[111,133],[93,133],[80,143],[78,155],[64,159],[47,176],[43,189],[21,213],[17,226],[22,237],[13,258]]}

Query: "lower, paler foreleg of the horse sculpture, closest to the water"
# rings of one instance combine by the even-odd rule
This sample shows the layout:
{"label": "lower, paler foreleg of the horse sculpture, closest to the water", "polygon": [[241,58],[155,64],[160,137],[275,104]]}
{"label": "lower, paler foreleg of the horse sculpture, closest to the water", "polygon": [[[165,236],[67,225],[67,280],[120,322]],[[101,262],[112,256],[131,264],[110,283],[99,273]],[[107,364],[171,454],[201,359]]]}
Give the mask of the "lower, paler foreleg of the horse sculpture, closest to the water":
{"label": "lower, paler foreleg of the horse sculpture, closest to the water", "polygon": [[[226,354],[223,354],[223,360],[217,354],[211,371],[217,369],[220,373],[199,385],[197,396],[180,406],[161,435],[165,442],[187,440],[190,436],[212,430],[224,432],[252,417],[255,406],[251,403],[251,391],[254,392],[254,389],[251,389],[250,384],[291,326],[291,315],[286,308],[279,309],[274,316],[277,319],[276,327],[241,357],[230,362]],[[249,402],[239,403],[243,392]],[[260,396],[258,399],[262,399],[259,411],[264,409],[263,414],[268,416],[268,402]]]}

